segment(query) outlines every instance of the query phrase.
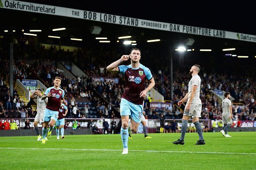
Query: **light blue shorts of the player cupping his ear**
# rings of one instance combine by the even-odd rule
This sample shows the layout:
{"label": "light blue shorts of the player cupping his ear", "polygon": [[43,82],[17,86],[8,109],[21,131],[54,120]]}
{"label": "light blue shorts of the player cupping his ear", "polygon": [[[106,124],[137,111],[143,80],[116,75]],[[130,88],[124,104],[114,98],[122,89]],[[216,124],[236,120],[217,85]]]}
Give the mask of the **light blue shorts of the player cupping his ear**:
{"label": "light blue shorts of the player cupping his ear", "polygon": [[143,114],[143,105],[134,104],[122,98],[120,103],[120,115],[131,115],[131,119],[140,123]]}

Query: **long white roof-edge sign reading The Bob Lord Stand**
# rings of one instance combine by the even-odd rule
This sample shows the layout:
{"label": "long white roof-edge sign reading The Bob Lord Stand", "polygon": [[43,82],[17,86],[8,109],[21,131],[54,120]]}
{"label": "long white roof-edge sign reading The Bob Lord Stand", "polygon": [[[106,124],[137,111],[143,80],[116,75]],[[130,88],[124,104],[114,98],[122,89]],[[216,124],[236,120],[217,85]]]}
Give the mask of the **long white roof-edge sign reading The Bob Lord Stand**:
{"label": "long white roof-edge sign reading The Bob Lord Stand", "polygon": [[[1,3],[2,2],[2,3]],[[256,36],[244,33],[236,33],[225,30],[215,30],[203,27],[193,27],[181,24],[172,24],[166,22],[150,21],[138,18],[130,18],[119,15],[110,15],[99,12],[84,11],[80,9],[64,8],[59,6],[50,6],[38,3],[28,3],[16,0],[0,0],[0,8],[15,9],[26,12],[37,12],[50,15],[59,15],[64,17],[80,18],[92,21],[100,21],[110,24],[120,24],[133,27],[142,27],[155,30],[165,30],[177,33],[189,33],[201,36],[212,36],[219,38],[235,39],[256,43]]]}

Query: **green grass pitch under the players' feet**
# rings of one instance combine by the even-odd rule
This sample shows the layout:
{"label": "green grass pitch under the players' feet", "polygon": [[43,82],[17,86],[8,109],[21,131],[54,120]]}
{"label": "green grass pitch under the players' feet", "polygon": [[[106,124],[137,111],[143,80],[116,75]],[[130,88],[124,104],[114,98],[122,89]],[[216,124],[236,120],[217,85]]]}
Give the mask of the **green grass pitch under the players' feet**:
{"label": "green grass pitch under the players' feet", "polygon": [[[128,141],[128,155],[121,155],[122,142],[119,134],[67,135],[64,140],[56,140],[56,136],[52,136],[45,145],[42,145],[41,141],[35,141],[36,137],[0,137],[0,168],[1,170],[10,168],[256,169],[256,155],[237,154],[256,153],[256,132],[230,132],[229,134],[231,138],[225,138],[220,133],[204,133],[206,141],[204,146],[194,145],[198,140],[196,133],[187,133],[183,146],[172,144],[172,141],[177,140],[180,134],[150,134],[152,139],[144,139],[143,134],[132,134],[133,139]],[[118,151],[63,149],[113,149]],[[184,152],[145,152],[145,150]]]}

